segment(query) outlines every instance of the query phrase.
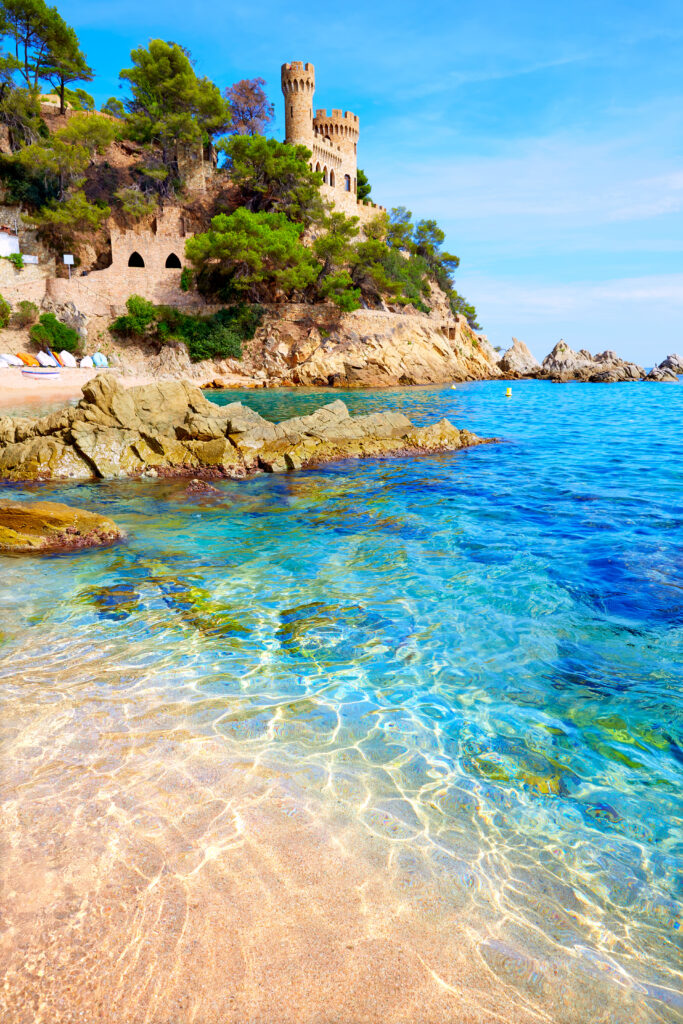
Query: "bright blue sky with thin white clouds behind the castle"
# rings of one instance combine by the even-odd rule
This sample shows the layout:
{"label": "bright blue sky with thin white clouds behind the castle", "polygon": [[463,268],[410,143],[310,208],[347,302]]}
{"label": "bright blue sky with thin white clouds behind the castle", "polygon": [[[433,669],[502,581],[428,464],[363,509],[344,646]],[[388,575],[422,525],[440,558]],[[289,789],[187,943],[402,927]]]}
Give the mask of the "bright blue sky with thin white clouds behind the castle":
{"label": "bright blue sky with thin white clouds behind the castle", "polygon": [[[53,0],[54,2],[54,0]],[[55,0],[118,92],[133,46],[187,46],[221,87],[315,65],[315,106],[360,118],[373,198],[435,217],[494,344],[644,365],[683,352],[680,0]]]}

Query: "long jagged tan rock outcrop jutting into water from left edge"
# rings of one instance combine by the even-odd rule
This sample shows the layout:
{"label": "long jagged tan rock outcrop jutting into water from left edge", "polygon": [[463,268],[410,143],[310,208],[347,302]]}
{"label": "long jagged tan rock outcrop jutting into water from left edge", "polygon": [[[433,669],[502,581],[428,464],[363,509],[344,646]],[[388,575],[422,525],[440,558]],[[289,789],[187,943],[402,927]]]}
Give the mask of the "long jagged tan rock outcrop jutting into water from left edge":
{"label": "long jagged tan rock outcrop jutting into water from left edge", "polygon": [[399,413],[351,417],[340,400],[275,424],[241,402],[216,406],[186,381],[126,389],[110,374],[88,381],[77,407],[0,420],[0,479],[240,478],[481,442],[447,420],[415,427]]}

